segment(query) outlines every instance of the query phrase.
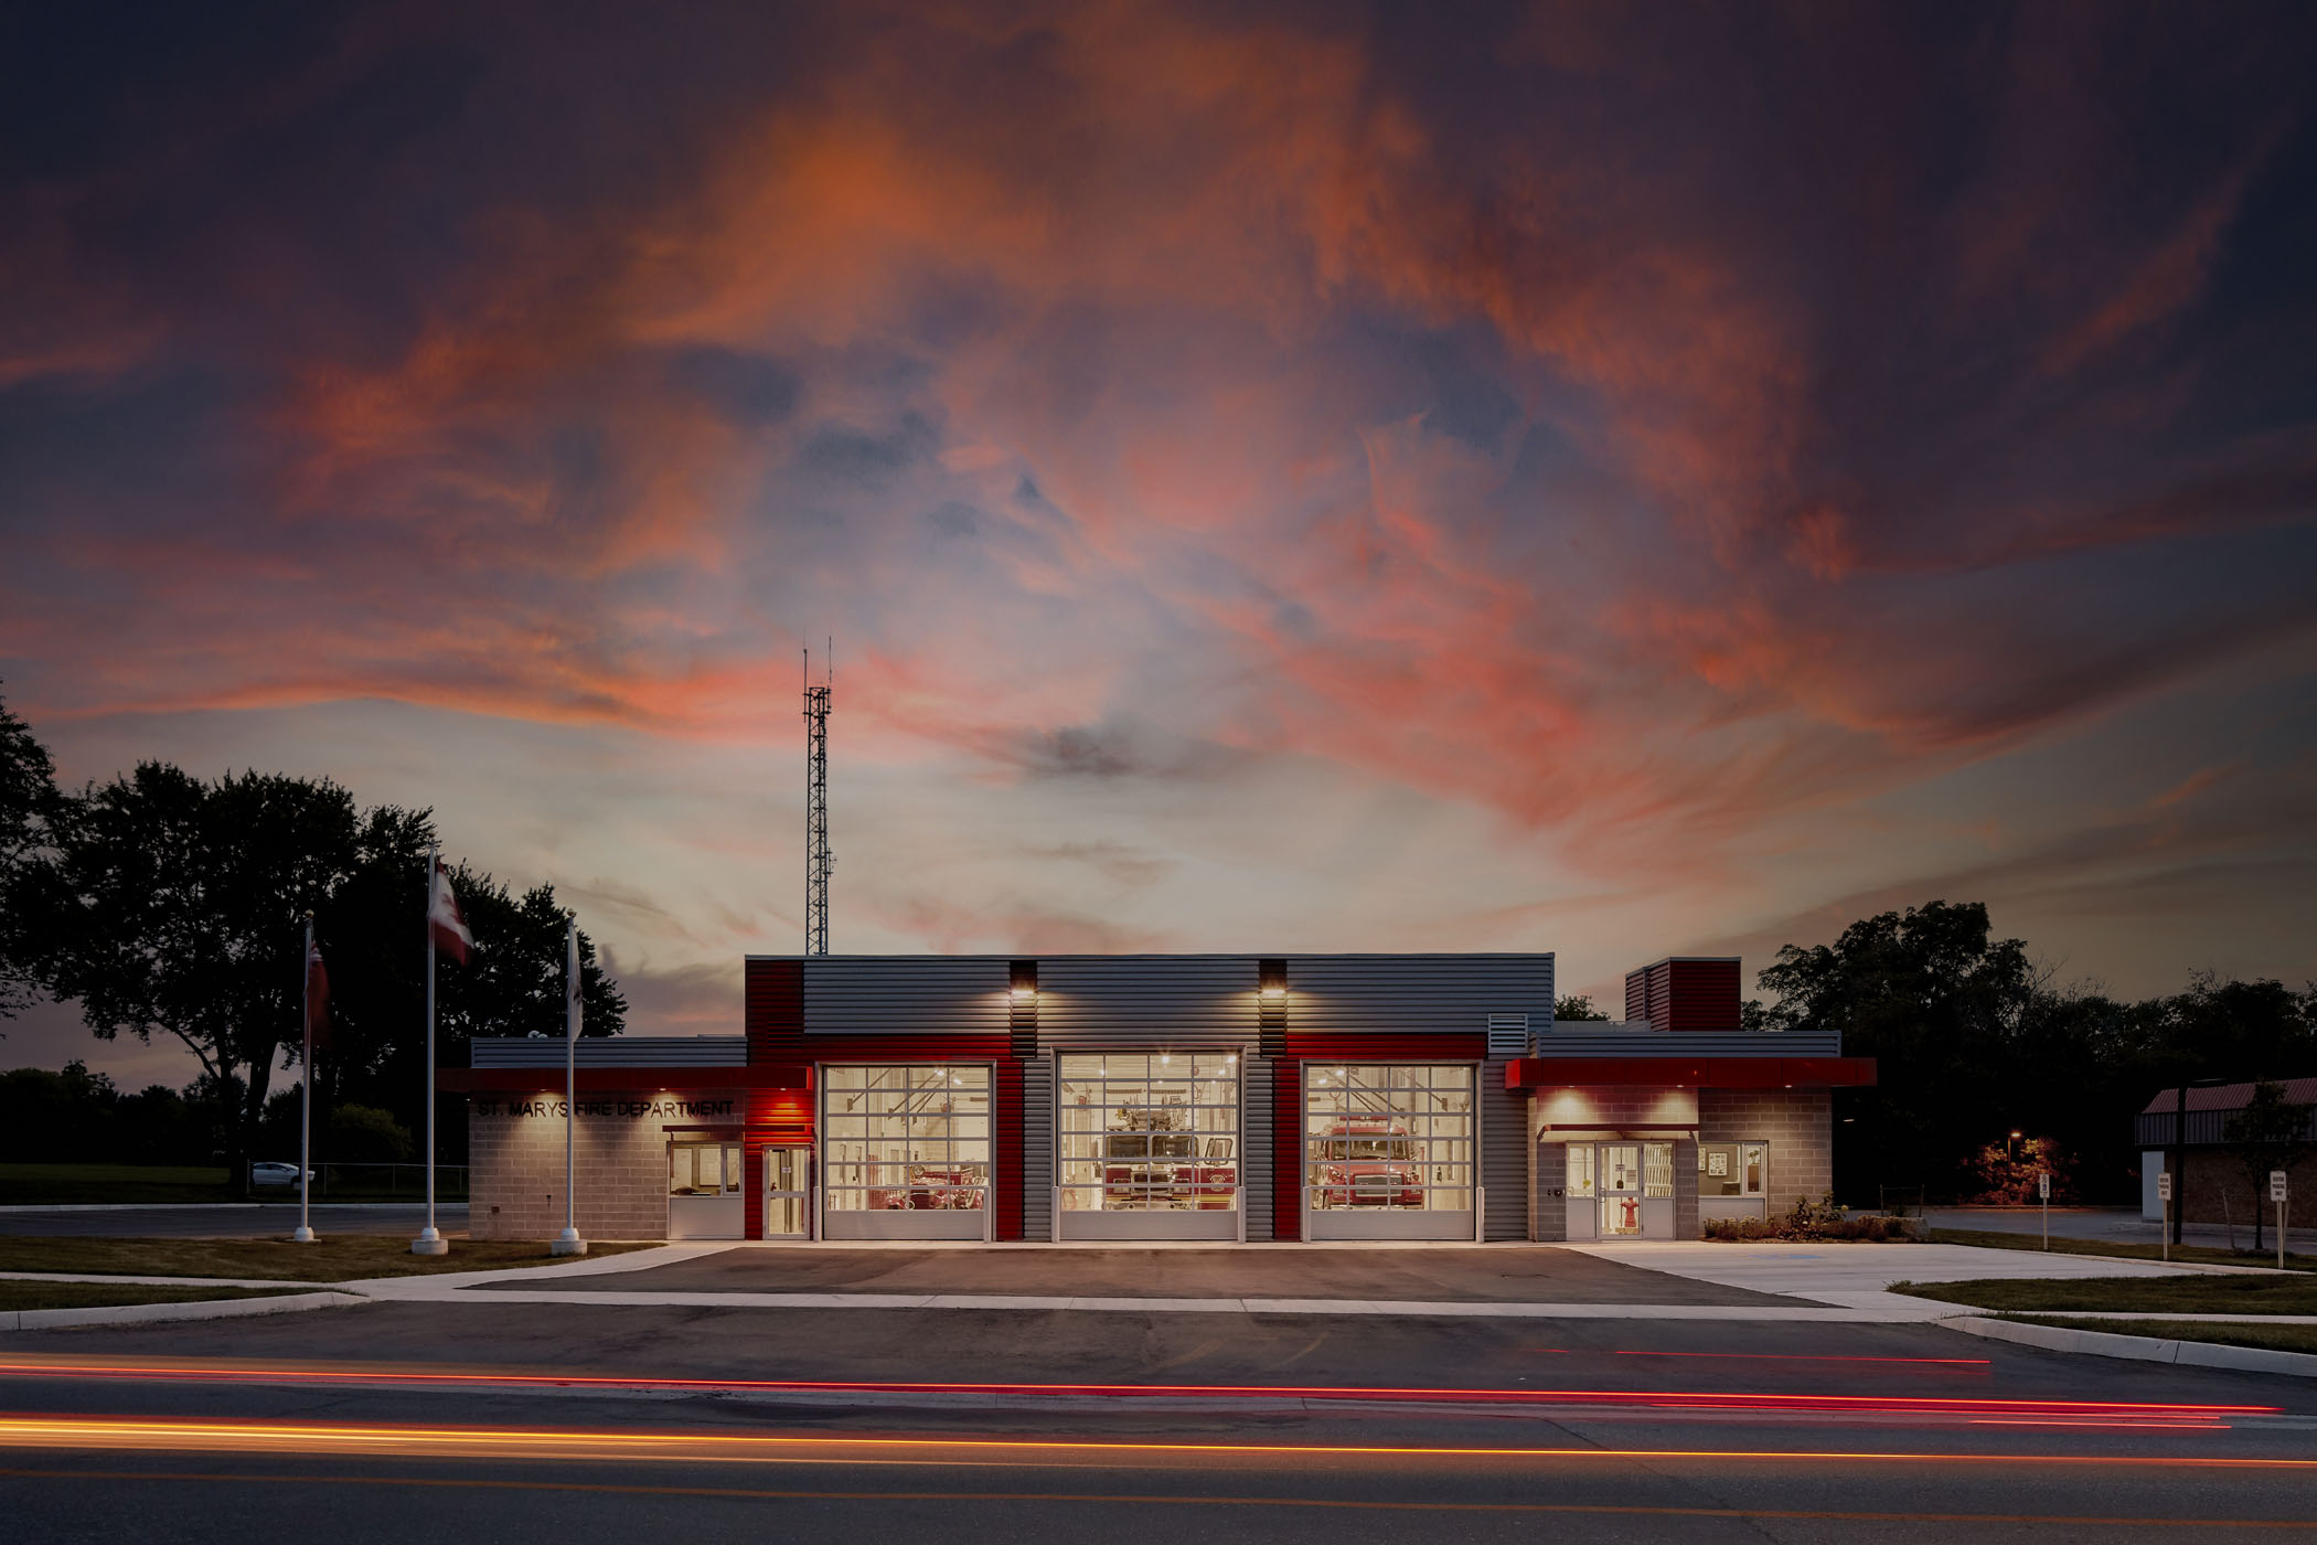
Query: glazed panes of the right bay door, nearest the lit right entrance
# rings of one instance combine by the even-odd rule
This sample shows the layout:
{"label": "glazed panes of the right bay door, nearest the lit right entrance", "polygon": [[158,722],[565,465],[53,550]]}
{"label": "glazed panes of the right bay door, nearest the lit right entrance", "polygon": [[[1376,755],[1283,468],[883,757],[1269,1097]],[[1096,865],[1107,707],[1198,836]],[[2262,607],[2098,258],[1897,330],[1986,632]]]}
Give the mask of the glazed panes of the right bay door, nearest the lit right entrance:
{"label": "glazed panes of the right bay door, nearest the lit right entrance", "polygon": [[1304,1184],[1314,1209],[1471,1211],[1471,1066],[1311,1063]]}

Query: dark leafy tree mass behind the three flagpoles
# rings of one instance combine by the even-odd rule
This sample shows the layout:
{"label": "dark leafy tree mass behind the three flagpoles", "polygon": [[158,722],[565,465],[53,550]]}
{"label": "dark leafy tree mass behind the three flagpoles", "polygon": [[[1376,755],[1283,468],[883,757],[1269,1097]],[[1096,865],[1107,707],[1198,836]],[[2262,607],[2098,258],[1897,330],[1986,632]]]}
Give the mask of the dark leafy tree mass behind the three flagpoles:
{"label": "dark leafy tree mass behind the three flagpoles", "polygon": [[[51,987],[79,998],[100,1040],[174,1035],[199,1061],[225,1156],[241,1172],[276,1068],[301,1052],[304,917],[331,968],[336,1045],[315,1079],[331,1096],[387,1105],[417,1126],[424,1068],[424,811],[359,811],[327,778],[227,774],[204,783],[146,762],[72,801],[58,848],[63,922]],[[456,876],[475,927],[470,971],[445,968],[440,1061],[482,1033],[561,1031],[563,913],[554,889],[519,903],[489,876]],[[582,936],[582,959],[593,943]],[[626,1001],[593,973],[593,1033],[616,1033]]]}

